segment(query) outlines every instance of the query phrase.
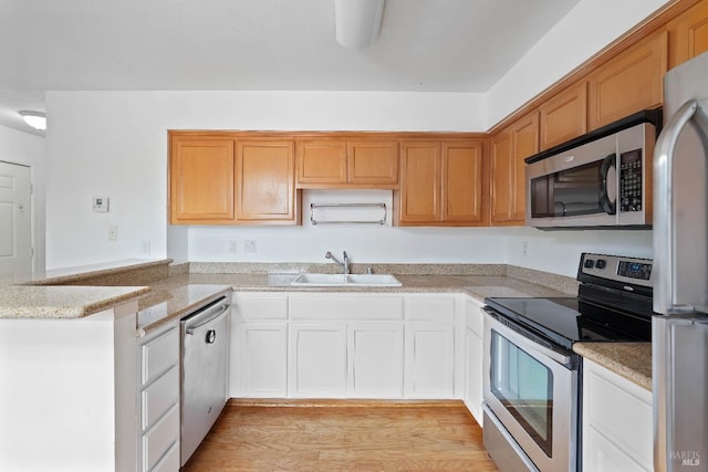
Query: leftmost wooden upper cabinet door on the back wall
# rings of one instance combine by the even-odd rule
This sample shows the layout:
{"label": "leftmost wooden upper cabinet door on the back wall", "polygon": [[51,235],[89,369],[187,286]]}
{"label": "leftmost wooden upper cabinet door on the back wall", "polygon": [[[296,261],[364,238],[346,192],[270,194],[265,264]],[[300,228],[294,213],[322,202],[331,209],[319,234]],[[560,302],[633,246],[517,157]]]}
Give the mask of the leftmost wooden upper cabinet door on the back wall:
{"label": "leftmost wooden upper cabinet door on the back wall", "polygon": [[232,222],[233,140],[173,137],[169,150],[169,222]]}

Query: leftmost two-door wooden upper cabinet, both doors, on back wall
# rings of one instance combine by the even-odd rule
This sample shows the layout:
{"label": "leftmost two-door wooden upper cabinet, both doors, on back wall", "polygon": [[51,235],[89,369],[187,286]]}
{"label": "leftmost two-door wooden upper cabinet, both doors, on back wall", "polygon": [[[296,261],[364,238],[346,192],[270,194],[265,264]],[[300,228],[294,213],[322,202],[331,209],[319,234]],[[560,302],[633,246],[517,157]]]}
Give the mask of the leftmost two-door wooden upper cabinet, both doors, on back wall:
{"label": "leftmost two-door wooden upper cabinet, both doors, on back wall", "polygon": [[171,224],[298,224],[294,140],[170,135]]}

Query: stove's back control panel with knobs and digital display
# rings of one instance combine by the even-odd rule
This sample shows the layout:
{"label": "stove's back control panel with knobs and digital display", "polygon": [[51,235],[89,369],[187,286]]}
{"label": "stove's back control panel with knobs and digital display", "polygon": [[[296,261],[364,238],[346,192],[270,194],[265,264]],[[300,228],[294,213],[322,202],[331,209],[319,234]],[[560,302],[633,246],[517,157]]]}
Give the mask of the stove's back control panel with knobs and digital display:
{"label": "stove's back control panel with knobs and digital display", "polygon": [[[581,256],[580,273],[610,281],[652,286],[652,260],[620,255],[592,254]],[[580,274],[579,274],[580,275]]]}

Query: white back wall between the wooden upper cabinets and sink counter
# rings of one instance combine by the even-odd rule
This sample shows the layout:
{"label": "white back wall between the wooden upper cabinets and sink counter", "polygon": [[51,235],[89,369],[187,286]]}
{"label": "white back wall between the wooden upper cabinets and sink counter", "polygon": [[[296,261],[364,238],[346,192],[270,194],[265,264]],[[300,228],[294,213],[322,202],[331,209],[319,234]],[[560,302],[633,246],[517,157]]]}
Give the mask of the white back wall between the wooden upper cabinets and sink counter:
{"label": "white back wall between the wooden upper cabinets and sink counter", "polygon": [[[341,260],[346,251],[353,264],[365,263],[504,263],[508,239],[499,228],[400,228],[379,224],[316,224],[310,222],[310,203],[342,202],[386,203],[391,209],[392,192],[386,190],[306,190],[303,192],[302,227],[191,227],[190,261],[239,262],[321,262],[327,251]],[[352,214],[352,216],[351,216]],[[381,211],[360,214],[342,211],[327,216],[316,210],[315,219],[381,218]],[[247,252],[253,241],[257,252]],[[233,252],[233,245],[236,252]]]}

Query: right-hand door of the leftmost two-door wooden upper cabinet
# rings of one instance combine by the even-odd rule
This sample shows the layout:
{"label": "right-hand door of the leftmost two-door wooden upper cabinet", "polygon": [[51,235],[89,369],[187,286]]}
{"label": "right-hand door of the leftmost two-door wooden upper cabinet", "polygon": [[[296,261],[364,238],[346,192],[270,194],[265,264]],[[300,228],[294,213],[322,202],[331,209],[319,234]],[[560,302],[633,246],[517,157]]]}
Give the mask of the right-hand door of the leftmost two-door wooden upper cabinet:
{"label": "right-hand door of the leftmost two-door wooden upper cabinet", "polygon": [[295,222],[293,141],[238,141],[237,166],[237,220]]}

